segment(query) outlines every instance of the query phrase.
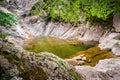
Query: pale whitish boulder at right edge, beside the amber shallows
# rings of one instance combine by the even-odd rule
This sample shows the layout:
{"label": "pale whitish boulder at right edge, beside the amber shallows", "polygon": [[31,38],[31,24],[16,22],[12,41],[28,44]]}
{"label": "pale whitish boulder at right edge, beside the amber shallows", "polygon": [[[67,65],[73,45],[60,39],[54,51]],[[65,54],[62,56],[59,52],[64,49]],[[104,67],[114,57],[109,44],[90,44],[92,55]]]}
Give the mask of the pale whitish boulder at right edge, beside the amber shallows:
{"label": "pale whitish boulder at right edge, beside the amber shallows", "polygon": [[101,49],[112,50],[116,56],[120,56],[120,33],[109,33],[100,38]]}

